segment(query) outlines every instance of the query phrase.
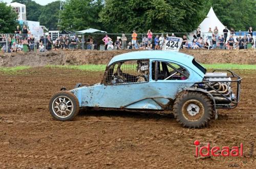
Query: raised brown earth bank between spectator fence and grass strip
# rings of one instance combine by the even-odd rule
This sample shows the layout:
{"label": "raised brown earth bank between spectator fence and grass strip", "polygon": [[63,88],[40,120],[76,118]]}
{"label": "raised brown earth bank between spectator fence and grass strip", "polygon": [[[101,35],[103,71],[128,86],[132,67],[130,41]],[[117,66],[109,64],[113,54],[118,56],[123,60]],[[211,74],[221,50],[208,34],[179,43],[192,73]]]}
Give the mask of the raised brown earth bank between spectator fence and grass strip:
{"label": "raised brown earth bank between spectator fence and grass strip", "polygon": [[[28,53],[0,53],[0,66],[45,66],[45,65],[83,65],[83,64],[108,64],[117,54],[134,50],[75,50],[75,51],[50,51]],[[256,50],[180,50],[193,55],[200,63],[234,63],[256,64]]]}

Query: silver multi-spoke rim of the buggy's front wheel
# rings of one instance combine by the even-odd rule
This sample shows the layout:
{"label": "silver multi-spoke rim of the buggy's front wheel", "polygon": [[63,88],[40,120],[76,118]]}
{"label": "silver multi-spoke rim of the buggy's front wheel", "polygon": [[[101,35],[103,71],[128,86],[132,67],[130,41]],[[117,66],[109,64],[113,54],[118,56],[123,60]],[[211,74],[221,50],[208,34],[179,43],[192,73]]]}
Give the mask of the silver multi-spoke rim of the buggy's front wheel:
{"label": "silver multi-spoke rim of the buggy's front wheel", "polygon": [[67,96],[58,96],[52,103],[52,110],[59,118],[69,117],[73,108],[73,102]]}

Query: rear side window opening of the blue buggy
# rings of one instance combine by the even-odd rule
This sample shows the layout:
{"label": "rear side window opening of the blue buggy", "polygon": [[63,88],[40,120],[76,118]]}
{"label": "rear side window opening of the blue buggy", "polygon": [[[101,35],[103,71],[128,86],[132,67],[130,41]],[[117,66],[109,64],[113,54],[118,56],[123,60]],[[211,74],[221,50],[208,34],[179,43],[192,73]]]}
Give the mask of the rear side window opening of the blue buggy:
{"label": "rear side window opening of the blue buggy", "polygon": [[[155,68],[157,64],[157,68]],[[155,80],[186,80],[189,77],[188,71],[175,63],[171,62],[153,62],[152,79]],[[157,74],[155,74],[155,70]]]}

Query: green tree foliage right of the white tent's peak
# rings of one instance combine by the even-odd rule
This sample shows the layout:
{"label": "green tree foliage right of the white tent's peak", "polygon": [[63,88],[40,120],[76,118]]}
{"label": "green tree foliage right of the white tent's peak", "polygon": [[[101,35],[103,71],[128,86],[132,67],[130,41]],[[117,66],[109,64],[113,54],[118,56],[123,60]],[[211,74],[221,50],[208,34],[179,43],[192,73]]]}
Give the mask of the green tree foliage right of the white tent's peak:
{"label": "green tree foliage right of the white tent's peak", "polygon": [[210,7],[219,20],[230,29],[247,31],[250,26],[256,29],[256,7],[252,0],[209,0],[205,1],[204,14]]}

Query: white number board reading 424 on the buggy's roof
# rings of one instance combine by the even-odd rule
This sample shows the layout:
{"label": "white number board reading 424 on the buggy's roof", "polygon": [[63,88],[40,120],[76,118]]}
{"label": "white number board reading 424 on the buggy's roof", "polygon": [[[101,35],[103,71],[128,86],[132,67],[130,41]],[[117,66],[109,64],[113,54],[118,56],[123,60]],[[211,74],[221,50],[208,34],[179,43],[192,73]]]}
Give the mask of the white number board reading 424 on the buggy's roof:
{"label": "white number board reading 424 on the buggy's roof", "polygon": [[163,50],[179,51],[182,44],[182,38],[166,37]]}

